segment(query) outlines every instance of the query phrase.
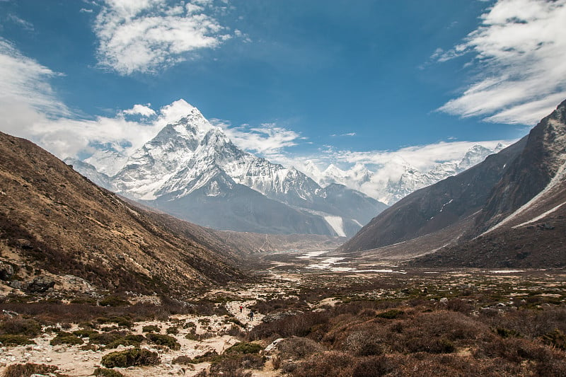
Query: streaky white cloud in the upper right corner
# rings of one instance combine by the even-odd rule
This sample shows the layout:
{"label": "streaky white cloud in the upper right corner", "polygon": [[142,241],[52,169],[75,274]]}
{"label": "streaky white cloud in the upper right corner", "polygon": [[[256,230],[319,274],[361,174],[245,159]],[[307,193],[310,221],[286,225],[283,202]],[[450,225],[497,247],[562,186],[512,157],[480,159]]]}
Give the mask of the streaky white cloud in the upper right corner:
{"label": "streaky white cloud in the upper right corner", "polygon": [[499,0],[461,45],[432,59],[473,54],[480,74],[439,110],[487,122],[536,124],[566,98],[566,0]]}

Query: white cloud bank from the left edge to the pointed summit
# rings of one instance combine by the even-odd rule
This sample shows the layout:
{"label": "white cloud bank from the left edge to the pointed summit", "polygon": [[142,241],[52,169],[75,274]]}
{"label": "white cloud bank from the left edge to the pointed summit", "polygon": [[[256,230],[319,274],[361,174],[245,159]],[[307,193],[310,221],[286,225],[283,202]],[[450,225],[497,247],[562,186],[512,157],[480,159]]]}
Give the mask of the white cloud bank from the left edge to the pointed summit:
{"label": "white cloud bank from the left edge to the pointed summit", "polygon": [[[50,84],[58,75],[0,39],[0,130],[30,139],[59,158],[88,153],[96,144],[129,153],[192,109],[178,100],[158,112],[149,104],[133,105],[113,117],[77,119]],[[140,115],[143,122],[126,119],[132,115]]]}

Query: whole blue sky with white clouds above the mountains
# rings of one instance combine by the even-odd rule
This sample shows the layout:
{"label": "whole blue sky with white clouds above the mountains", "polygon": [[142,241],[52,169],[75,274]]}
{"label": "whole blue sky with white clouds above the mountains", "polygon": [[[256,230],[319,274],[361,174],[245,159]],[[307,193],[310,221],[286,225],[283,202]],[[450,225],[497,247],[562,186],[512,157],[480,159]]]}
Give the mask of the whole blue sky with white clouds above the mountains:
{"label": "whole blue sky with white clouds above the mountains", "polygon": [[193,105],[276,163],[426,170],[565,99],[566,0],[0,0],[0,131],[59,158]]}

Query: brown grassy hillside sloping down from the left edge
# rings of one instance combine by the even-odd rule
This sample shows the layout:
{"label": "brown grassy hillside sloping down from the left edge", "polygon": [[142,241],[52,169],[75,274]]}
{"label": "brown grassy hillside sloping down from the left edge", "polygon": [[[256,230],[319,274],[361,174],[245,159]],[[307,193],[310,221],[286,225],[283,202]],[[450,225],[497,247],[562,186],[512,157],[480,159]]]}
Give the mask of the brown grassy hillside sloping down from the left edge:
{"label": "brown grassy hillside sloping down from the left edge", "polygon": [[[175,221],[171,219],[170,221]],[[0,133],[0,260],[99,289],[166,293],[241,278],[221,243],[173,233],[30,141]],[[204,232],[206,233],[206,232]]]}

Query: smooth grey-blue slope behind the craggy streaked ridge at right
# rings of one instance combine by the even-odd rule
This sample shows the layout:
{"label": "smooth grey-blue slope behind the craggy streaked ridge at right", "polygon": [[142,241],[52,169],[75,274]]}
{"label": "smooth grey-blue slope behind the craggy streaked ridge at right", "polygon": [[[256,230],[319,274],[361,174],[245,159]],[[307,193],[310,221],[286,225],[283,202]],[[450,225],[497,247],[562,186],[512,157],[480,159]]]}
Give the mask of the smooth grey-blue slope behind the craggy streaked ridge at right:
{"label": "smooth grey-blue slope behind the craggy streaked ridge at right", "polygon": [[463,173],[413,192],[381,212],[337,251],[348,253],[400,243],[440,231],[475,214],[525,142],[521,139]]}

